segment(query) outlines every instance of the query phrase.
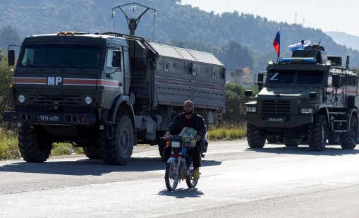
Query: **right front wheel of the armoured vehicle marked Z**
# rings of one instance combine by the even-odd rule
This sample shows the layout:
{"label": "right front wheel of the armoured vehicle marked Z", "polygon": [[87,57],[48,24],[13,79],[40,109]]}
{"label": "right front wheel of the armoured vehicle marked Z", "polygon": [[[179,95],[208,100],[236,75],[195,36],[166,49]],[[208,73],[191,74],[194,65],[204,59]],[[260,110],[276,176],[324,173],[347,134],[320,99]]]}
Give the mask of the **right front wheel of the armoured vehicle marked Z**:
{"label": "right front wheel of the armoured vehicle marked Z", "polygon": [[323,151],[327,143],[327,118],[322,114],[314,116],[314,121],[308,127],[308,145],[311,151]]}

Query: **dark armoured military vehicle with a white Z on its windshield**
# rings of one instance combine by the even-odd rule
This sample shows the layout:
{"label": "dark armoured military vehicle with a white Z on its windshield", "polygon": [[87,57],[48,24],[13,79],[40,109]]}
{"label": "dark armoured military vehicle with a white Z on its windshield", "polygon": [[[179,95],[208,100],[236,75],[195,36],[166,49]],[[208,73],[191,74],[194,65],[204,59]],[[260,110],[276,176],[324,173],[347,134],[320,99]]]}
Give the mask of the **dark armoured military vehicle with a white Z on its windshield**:
{"label": "dark armoured military vehicle with a white Z on its windshield", "polygon": [[[251,148],[269,143],[297,147],[308,143],[322,151],[339,143],[354,149],[358,138],[358,75],[340,56],[327,56],[324,47],[313,45],[293,51],[277,63],[269,61],[259,73],[260,92],[245,104],[247,140]],[[251,91],[245,92],[251,96]]]}

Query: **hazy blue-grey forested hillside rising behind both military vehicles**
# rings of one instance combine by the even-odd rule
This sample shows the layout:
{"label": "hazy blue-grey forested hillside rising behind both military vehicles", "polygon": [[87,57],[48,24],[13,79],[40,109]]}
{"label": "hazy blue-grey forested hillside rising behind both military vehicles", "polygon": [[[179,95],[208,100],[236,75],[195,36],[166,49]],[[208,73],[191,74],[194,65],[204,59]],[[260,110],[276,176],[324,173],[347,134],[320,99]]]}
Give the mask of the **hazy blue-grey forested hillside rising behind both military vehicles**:
{"label": "hazy blue-grey forested hillside rising behind both military vehicles", "polygon": [[[85,32],[116,31],[128,33],[128,24],[123,13],[115,8],[111,18],[111,8],[133,1],[118,0],[0,0],[0,28],[8,25],[18,30],[20,38],[59,30],[79,30]],[[253,71],[263,70],[268,59],[276,59],[272,43],[276,31],[281,26],[281,52],[290,55],[286,47],[300,40],[311,39],[312,43],[321,40],[328,54],[351,56],[351,66],[359,66],[359,52],[334,42],[324,32],[301,25],[276,23],[245,13],[214,14],[201,11],[178,0],[136,0],[138,4],[157,9],[154,19],[152,11],[141,18],[136,35],[146,37],[152,42],[170,44],[174,41],[190,41],[225,47],[231,42],[248,47],[254,59]],[[130,17],[142,13],[136,7],[126,10]],[[15,42],[11,42],[15,43]],[[1,42],[0,42],[1,44]],[[3,42],[1,47],[7,48]],[[218,49],[219,51],[221,49]],[[206,51],[208,52],[208,51]],[[241,56],[232,59],[241,59]],[[224,61],[224,60],[221,60]],[[239,63],[240,61],[238,61]],[[243,68],[238,64],[238,68]]]}

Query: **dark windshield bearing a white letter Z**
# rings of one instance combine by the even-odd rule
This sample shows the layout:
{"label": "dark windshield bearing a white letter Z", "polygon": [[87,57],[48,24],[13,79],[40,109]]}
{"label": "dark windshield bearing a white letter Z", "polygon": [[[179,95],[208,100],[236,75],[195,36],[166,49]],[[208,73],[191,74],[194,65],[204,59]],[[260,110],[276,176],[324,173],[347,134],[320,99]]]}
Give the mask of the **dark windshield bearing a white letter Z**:
{"label": "dark windshield bearing a white letter Z", "polygon": [[322,71],[272,71],[269,72],[268,83],[275,84],[321,84]]}

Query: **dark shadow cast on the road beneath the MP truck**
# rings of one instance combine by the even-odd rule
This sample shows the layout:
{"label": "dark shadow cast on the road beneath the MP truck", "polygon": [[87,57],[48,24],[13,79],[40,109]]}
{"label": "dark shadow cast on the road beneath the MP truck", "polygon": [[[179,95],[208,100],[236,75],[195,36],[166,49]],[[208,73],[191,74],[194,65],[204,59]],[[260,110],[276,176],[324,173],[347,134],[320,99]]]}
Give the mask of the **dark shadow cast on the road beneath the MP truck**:
{"label": "dark shadow cast on the road beneath the MP truck", "polygon": [[[202,166],[219,165],[221,162],[202,160]],[[37,174],[63,174],[73,176],[101,176],[111,172],[141,172],[166,169],[166,164],[160,157],[132,157],[126,166],[111,166],[104,164],[102,159],[78,159],[52,161],[44,163],[28,163],[20,160],[15,163],[0,166],[0,171],[37,173]]]}

